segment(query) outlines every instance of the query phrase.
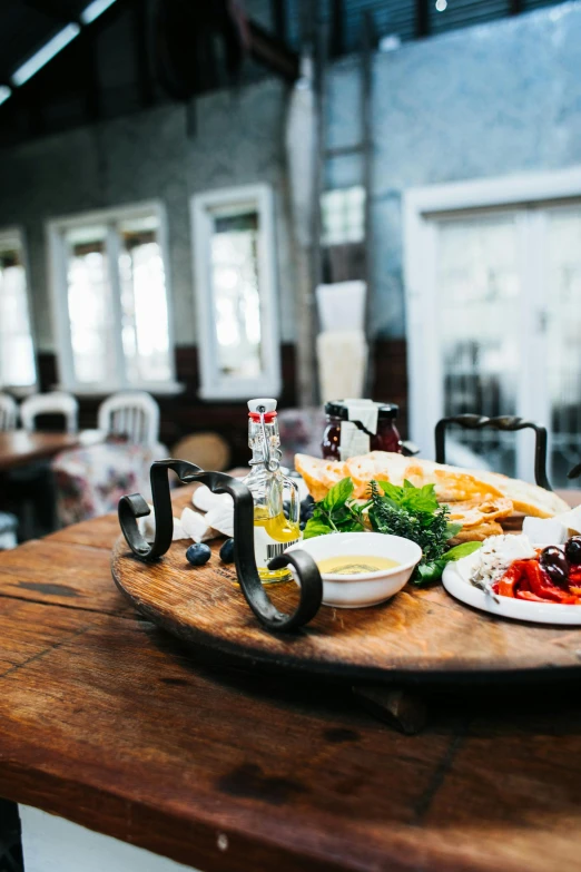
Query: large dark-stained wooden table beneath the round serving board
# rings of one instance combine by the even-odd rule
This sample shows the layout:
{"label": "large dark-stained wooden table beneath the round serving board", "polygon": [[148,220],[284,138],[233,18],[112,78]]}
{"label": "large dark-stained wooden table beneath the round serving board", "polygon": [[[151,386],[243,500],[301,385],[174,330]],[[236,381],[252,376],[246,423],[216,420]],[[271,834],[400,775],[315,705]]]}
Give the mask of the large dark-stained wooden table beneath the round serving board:
{"label": "large dark-stained wooden table beneath the round serving board", "polygon": [[[346,686],[139,619],[110,579],[117,535],[108,516],[0,555],[0,795],[66,819],[40,819],[63,853],[101,837],[75,822],[204,872],[581,870],[578,683],[434,692],[403,736]],[[106,868],[176,869],[139,856]],[[101,868],[76,862],[55,868]]]}

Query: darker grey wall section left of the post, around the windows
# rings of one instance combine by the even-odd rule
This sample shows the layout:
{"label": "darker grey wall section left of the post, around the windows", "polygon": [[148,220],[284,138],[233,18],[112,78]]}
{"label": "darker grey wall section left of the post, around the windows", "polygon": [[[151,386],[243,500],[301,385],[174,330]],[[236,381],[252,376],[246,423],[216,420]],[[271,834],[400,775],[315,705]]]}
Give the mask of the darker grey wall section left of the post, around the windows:
{"label": "darker grey wall section left of the post, around the windows", "polygon": [[165,106],[0,151],[0,227],[28,242],[33,315],[41,351],[53,349],[45,225],[82,210],[160,199],[169,224],[176,341],[196,341],[189,198],[230,185],[268,182],[275,190],[283,340],[293,337],[294,281],[284,172],[285,86],[265,80],[220,91],[186,110]]}

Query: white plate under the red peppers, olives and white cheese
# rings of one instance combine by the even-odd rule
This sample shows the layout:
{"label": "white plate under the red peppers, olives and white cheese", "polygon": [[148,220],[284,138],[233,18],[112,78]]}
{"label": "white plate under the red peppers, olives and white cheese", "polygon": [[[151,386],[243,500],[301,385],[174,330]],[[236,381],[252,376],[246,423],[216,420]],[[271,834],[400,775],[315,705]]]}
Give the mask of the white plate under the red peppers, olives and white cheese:
{"label": "white plate under the red peppers, olives and white cheese", "polygon": [[[475,555],[477,551],[474,552]],[[470,581],[466,581],[474,556],[464,557],[455,564],[447,564],[442,576],[444,588],[461,602],[480,608],[481,611],[513,620],[528,620],[533,624],[562,624],[570,627],[581,626],[581,606],[528,602],[525,599],[492,596],[479,587],[474,587]]]}

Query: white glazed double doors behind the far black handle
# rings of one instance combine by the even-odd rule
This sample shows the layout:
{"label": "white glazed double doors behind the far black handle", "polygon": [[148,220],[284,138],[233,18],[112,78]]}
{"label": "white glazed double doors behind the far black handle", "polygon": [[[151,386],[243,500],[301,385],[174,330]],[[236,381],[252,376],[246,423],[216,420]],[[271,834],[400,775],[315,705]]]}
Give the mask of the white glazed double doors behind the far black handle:
{"label": "white glazed double doors behind the far black handle", "polygon": [[[429,453],[442,415],[532,419],[550,431],[553,487],[579,486],[567,473],[581,461],[581,203],[433,214],[422,243],[412,434]],[[532,432],[457,429],[449,444],[451,463],[533,479]]]}

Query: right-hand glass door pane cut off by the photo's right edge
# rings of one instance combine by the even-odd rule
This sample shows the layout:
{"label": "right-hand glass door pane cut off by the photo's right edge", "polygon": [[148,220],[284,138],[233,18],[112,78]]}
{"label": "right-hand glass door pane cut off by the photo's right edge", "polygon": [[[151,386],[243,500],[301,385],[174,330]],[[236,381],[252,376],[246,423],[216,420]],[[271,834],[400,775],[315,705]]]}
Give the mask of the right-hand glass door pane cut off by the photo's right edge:
{"label": "right-hand glass door pane cut off by the photo's right edge", "polygon": [[545,365],[552,425],[554,487],[581,459],[581,207],[548,213]]}

